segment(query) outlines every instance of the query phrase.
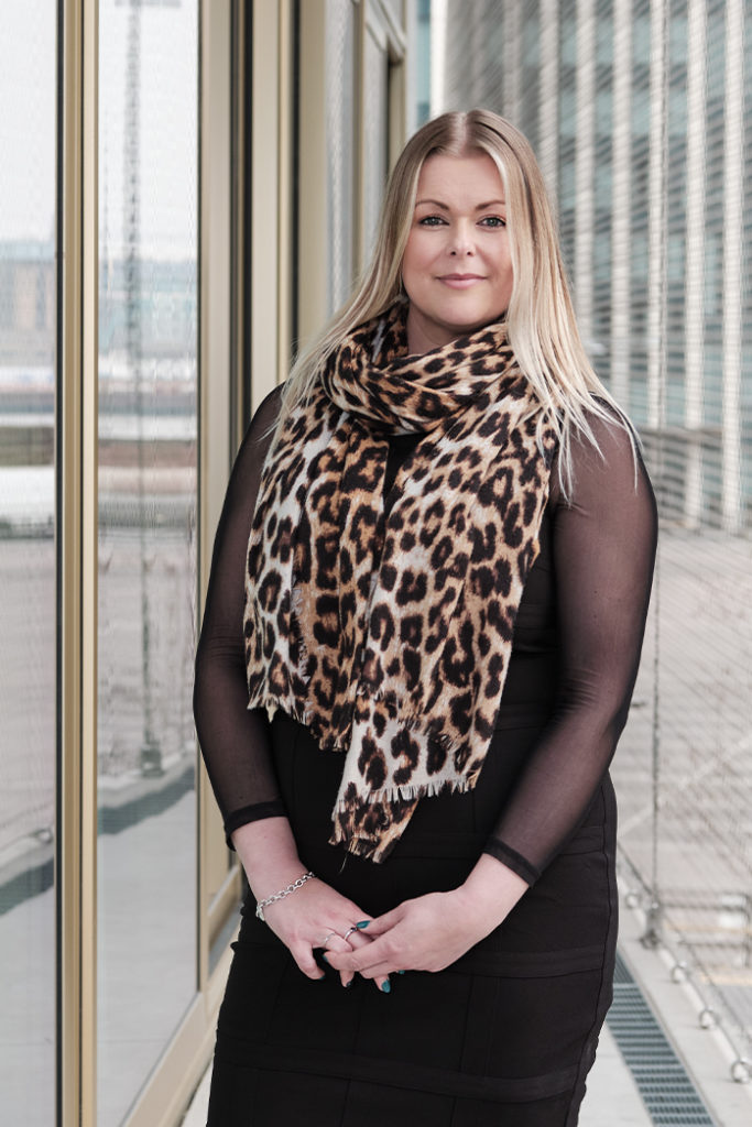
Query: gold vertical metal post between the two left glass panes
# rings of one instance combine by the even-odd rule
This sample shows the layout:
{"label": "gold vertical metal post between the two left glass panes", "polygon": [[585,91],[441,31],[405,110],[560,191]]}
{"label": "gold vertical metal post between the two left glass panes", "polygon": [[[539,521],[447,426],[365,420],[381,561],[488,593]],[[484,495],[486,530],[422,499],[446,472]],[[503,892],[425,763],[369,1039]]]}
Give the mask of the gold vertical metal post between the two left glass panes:
{"label": "gold vertical metal post between the two left glass panes", "polygon": [[97,0],[60,0],[57,1119],[96,1116]]}

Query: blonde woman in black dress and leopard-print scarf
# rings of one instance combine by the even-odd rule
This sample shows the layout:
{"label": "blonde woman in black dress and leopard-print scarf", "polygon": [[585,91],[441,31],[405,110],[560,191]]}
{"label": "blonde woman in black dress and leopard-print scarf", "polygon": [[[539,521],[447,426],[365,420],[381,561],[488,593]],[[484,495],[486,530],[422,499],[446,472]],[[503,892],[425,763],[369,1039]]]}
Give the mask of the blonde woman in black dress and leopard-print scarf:
{"label": "blonde woman in black dress and leopard-print scarf", "polygon": [[211,1125],[576,1124],[655,530],[530,147],[428,123],[218,533],[196,721],[251,891]]}

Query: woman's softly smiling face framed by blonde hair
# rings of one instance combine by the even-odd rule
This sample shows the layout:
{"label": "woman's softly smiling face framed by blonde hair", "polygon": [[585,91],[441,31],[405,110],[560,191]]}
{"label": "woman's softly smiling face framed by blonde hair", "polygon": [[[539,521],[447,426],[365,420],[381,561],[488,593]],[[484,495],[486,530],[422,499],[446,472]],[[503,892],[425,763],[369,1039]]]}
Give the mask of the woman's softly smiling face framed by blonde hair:
{"label": "woman's softly smiling face framed by blonde hair", "polygon": [[408,350],[424,353],[499,320],[512,281],[504,187],[490,157],[428,157],[402,257]]}

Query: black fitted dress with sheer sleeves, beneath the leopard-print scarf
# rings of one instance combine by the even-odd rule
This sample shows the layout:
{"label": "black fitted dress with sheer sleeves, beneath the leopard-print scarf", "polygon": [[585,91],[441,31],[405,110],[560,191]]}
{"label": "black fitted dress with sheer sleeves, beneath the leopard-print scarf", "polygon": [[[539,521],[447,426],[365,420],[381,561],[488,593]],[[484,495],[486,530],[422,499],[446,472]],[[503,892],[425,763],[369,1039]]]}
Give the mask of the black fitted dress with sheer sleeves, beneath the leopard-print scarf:
{"label": "black fitted dress with sheer sleeves, beneath the leopard-print scarf", "polygon": [[[330,970],[304,977],[249,900],[220,1012],[209,1124],[573,1127],[611,1001],[608,765],[655,553],[645,471],[635,474],[625,433],[602,424],[602,459],[575,449],[574,495],[565,504],[554,486],[478,786],[424,799],[375,866],[327,844],[342,756],[290,718],[269,725],[246,708],[245,553],[275,410],[273,392],[236,462],[197,656],[196,722],[228,833],[286,814],[303,863],[372,915],[457,887],[484,851],[531,887],[461,959],[439,974],[395,975],[390,994],[357,977],[343,990]],[[392,441],[387,491],[416,441]]]}

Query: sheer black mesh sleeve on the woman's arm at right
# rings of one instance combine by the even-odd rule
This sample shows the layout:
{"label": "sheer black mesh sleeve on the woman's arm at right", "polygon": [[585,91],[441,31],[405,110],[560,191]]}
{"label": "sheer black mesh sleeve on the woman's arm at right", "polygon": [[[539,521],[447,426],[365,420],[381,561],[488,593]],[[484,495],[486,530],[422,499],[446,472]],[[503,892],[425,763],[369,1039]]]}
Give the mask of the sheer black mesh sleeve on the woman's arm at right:
{"label": "sheer black mesh sleeve on the woman's arm at right", "polygon": [[551,719],[486,845],[529,884],[587,811],[629,709],[653,578],[657,515],[623,429],[577,443],[569,503],[552,499],[559,681]]}

